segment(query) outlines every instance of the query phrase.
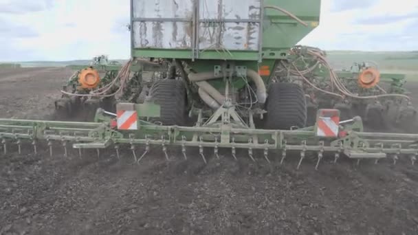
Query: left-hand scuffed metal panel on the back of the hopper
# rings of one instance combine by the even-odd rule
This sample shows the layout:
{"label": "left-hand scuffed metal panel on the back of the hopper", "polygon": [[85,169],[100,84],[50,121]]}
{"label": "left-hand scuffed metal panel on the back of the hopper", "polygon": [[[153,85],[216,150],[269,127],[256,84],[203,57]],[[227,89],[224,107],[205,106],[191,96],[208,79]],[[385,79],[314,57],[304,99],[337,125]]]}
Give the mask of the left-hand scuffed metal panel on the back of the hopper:
{"label": "left-hand scuffed metal panel on the back of the hopper", "polygon": [[190,49],[195,0],[133,0],[133,47]]}

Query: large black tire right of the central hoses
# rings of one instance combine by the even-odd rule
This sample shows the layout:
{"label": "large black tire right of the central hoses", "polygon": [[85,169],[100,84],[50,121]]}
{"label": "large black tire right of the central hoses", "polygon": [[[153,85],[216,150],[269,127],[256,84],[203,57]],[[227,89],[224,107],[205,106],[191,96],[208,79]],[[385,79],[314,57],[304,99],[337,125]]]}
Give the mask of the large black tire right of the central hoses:
{"label": "large black tire right of the central hoses", "polygon": [[265,128],[289,130],[303,128],[307,122],[307,104],[302,87],[294,83],[274,83],[267,99]]}

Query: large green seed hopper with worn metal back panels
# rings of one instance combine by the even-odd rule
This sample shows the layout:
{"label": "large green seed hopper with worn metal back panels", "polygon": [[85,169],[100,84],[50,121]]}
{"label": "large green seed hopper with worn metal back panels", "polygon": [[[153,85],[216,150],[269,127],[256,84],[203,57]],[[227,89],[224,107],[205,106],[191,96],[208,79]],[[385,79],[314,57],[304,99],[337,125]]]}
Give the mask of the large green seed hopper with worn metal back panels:
{"label": "large green seed hopper with worn metal back panels", "polygon": [[272,68],[319,20],[320,0],[132,0],[131,51],[133,57]]}

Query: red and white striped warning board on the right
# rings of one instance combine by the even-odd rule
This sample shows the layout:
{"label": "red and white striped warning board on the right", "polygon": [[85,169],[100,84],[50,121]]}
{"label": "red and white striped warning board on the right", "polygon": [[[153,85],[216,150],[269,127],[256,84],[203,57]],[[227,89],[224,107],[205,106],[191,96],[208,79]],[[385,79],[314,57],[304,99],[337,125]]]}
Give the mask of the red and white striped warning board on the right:
{"label": "red and white striped warning board on the right", "polygon": [[320,137],[338,137],[340,131],[340,111],[338,109],[320,109],[316,119],[316,135]]}

